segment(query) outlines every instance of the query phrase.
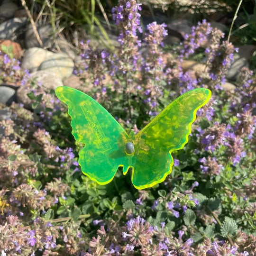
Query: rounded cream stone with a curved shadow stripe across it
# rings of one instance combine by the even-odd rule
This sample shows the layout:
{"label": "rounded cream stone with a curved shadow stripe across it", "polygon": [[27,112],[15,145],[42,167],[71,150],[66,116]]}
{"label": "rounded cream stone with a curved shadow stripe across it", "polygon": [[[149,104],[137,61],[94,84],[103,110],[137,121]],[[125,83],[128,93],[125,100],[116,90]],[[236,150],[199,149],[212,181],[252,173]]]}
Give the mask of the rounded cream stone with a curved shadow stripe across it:
{"label": "rounded cream stone with a curved shadow stripe across it", "polygon": [[64,54],[54,54],[45,59],[39,66],[39,70],[55,73],[65,80],[73,73],[74,63],[71,58]]}

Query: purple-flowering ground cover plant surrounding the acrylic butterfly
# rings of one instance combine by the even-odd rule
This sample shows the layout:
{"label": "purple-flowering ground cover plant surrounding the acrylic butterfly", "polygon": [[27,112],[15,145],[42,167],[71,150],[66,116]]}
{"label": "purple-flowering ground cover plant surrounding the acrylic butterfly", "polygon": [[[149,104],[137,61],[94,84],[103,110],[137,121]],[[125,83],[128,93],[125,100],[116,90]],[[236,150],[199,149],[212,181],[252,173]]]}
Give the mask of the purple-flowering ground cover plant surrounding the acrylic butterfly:
{"label": "purple-flowering ground cover plant surrounding the acrylic butterfly", "polygon": [[[212,99],[197,113],[188,144],[173,153],[172,174],[136,190],[119,170],[101,186],[82,175],[82,144],[54,91],[29,79],[17,60],[0,55],[2,81],[30,86],[32,111],[13,103],[1,120],[0,253],[75,256],[250,256],[256,254],[256,78],[239,73],[223,90],[236,49],[203,20],[181,45],[165,48],[165,24],[142,35],[141,6],[119,0],[114,52],[80,42],[79,88],[137,133],[181,93],[207,87]],[[200,59],[199,76],[181,68]]]}

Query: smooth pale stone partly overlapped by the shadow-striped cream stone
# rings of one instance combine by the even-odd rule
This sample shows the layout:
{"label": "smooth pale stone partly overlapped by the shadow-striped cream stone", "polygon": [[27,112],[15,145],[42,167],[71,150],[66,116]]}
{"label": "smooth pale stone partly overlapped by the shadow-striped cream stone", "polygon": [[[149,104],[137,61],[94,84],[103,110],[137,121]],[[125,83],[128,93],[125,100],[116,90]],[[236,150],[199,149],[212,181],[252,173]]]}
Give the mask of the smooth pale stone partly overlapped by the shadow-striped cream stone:
{"label": "smooth pale stone partly overlapped by the shadow-striped cream stone", "polygon": [[21,67],[23,69],[28,69],[30,72],[34,72],[38,69],[40,64],[50,55],[53,55],[54,53],[47,51],[42,48],[33,47],[30,49],[27,49],[27,51],[24,54]]}

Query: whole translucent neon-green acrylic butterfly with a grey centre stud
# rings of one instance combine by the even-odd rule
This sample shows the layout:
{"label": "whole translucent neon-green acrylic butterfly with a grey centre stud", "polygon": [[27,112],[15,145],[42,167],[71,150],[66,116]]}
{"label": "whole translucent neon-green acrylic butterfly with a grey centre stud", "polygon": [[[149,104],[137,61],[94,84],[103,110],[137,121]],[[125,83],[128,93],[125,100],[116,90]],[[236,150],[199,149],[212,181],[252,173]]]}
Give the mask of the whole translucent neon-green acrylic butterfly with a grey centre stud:
{"label": "whole translucent neon-green acrylic butterfly with a grey centre stud", "polygon": [[123,174],[132,168],[137,189],[152,187],[171,173],[171,153],[188,142],[196,111],[205,105],[211,91],[188,91],[169,104],[137,135],[129,135],[97,101],[82,91],[61,86],[57,97],[68,105],[72,134],[85,144],[79,152],[83,174],[104,185],[114,178],[119,166]]}

